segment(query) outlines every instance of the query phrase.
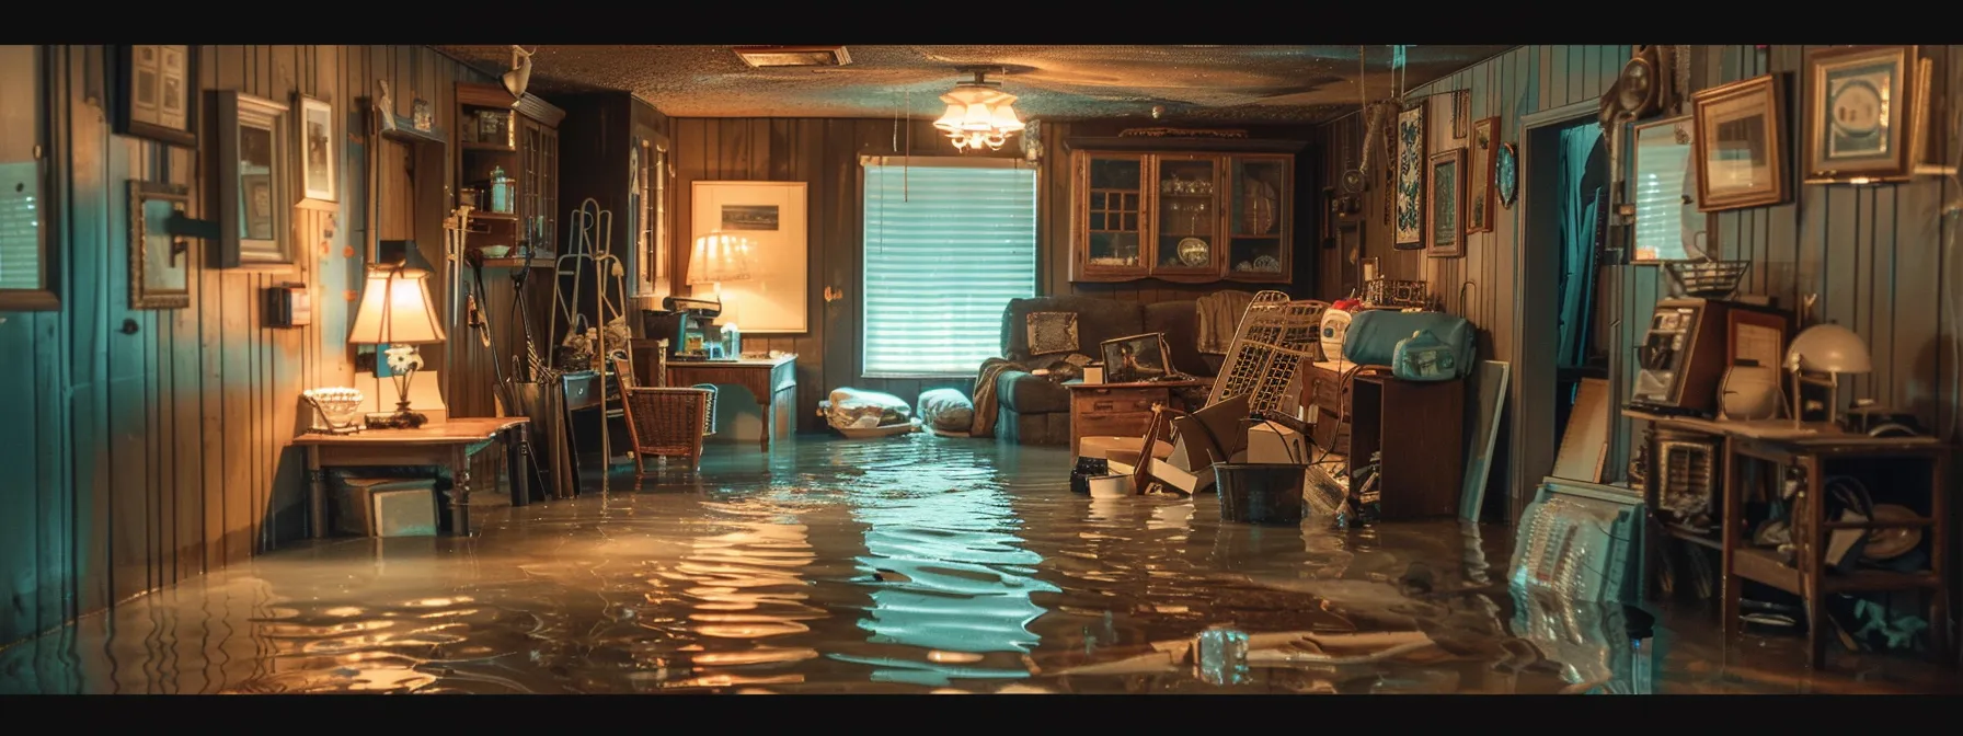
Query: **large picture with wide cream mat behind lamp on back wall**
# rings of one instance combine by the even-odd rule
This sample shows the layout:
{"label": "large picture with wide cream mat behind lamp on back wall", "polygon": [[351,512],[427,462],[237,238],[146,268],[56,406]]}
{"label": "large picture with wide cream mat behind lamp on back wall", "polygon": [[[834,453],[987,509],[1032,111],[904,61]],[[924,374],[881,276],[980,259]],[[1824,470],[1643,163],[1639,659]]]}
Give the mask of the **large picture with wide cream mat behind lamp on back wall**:
{"label": "large picture with wide cream mat behind lamp on back wall", "polygon": [[[805,294],[807,184],[801,181],[699,181],[691,190],[691,237],[742,236],[750,241],[748,279],[718,287],[691,285],[697,294],[722,290],[722,316],[744,334],[803,334],[811,330]],[[693,259],[697,253],[691,253]]]}

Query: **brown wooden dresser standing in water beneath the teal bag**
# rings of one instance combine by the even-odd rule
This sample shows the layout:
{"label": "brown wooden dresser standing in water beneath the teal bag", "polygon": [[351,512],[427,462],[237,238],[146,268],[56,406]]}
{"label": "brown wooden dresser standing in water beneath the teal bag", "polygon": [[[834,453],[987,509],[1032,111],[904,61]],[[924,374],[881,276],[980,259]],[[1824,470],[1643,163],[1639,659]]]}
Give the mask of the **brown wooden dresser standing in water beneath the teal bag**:
{"label": "brown wooden dresser standing in water beneath the teal bag", "polygon": [[[1349,365],[1349,363],[1347,363]],[[1351,467],[1384,453],[1384,518],[1459,514],[1464,485],[1464,381],[1398,381],[1358,375],[1347,385],[1335,363],[1309,367],[1303,406],[1315,410],[1311,440]]]}

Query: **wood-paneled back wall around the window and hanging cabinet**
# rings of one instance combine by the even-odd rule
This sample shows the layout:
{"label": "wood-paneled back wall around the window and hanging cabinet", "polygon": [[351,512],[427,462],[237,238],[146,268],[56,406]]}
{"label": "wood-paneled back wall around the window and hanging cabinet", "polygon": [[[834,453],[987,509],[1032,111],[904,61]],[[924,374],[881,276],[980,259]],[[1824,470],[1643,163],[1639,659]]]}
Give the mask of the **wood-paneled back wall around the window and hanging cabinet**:
{"label": "wood-paneled back wall around the window and hanging cabinet", "polygon": [[[893,393],[915,400],[921,391],[960,387],[972,379],[862,379],[860,377],[860,269],[862,269],[862,175],[860,155],[958,155],[930,122],[844,120],[844,118],[675,118],[675,292],[687,292],[681,275],[687,273],[687,243],[693,237],[691,190],[697,181],[803,181],[811,184],[809,212],[809,314],[811,332],[803,336],[744,336],[746,349],[783,349],[797,353],[797,416],[799,430],[821,430],[817,402],[838,387],[858,387]],[[1042,147],[1036,175],[1036,292],[1091,294],[1139,302],[1194,298],[1219,289],[1264,289],[1250,285],[1174,285],[1139,281],[1125,285],[1070,283],[1070,157],[1062,141],[1070,135],[1117,135],[1139,122],[1042,122]],[[1313,141],[1315,128],[1250,128],[1256,137],[1288,137]],[[1317,165],[1311,151],[1296,163],[1296,285],[1290,292],[1309,292],[1313,257],[1319,247],[1319,224],[1313,220],[1319,202],[1315,194]],[[1017,157],[1011,143],[1001,151],[970,153]],[[844,296],[824,300],[824,289]]]}

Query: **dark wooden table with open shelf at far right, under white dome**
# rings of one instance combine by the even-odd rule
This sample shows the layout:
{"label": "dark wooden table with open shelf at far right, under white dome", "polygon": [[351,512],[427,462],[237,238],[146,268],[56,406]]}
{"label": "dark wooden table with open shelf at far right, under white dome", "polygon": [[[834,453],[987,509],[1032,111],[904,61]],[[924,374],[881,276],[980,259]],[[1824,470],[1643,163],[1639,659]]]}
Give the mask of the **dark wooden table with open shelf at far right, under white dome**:
{"label": "dark wooden table with open shelf at far right, under white dome", "polygon": [[[1810,424],[1794,428],[1792,420],[1765,422],[1712,422],[1682,416],[1659,416],[1639,410],[1623,410],[1623,416],[1653,422],[1661,430],[1698,432],[1722,440],[1720,473],[1720,538],[1671,528],[1669,536],[1700,546],[1716,546],[1722,553],[1720,575],[1724,589],[1720,616],[1725,638],[1737,632],[1739,597],[1743,581],[1769,585],[1806,601],[1806,640],[1814,669],[1826,665],[1826,597],[1833,593],[1875,593],[1875,591],[1914,591],[1930,593],[1930,652],[1937,661],[1949,661],[1949,502],[1947,467],[1949,447],[1936,438],[1869,438],[1849,434],[1835,426]],[[1655,438],[1651,440],[1655,442]],[[1643,483],[1643,499],[1651,512],[1659,510],[1657,479],[1659,447],[1649,447],[1649,465]],[[1826,467],[1837,461],[1886,459],[1928,463],[1928,516],[1888,524],[1888,522],[1831,522],[1826,518],[1826,504],[1816,502],[1830,475]],[[1796,467],[1806,473],[1806,495],[1800,497],[1792,518],[1792,542],[1798,548],[1796,565],[1788,565],[1778,552],[1749,544],[1751,530],[1745,518],[1743,467],[1747,463],[1771,463],[1773,467]],[[1873,489],[1879,491],[1879,489]],[[1910,499],[1896,499],[1910,500]],[[1920,500],[1920,499],[1918,499]],[[1875,502],[1888,502],[1877,499]],[[1826,548],[1835,530],[1861,530],[1863,534],[1886,526],[1920,526],[1928,530],[1930,569],[1922,573],[1896,573],[1861,569],[1855,573],[1828,573]]]}

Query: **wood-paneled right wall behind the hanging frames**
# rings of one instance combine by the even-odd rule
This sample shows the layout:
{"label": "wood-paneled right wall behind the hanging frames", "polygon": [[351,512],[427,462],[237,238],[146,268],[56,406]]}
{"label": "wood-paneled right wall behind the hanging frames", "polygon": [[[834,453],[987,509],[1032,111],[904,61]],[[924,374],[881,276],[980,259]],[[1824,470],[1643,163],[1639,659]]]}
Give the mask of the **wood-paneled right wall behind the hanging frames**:
{"label": "wood-paneled right wall behind the hanging frames", "polygon": [[[1798,45],[1698,45],[1690,47],[1692,82],[1708,88],[1729,80],[1784,73],[1788,90],[1788,139],[1798,139],[1800,110],[1798,73],[1806,47]],[[1627,45],[1527,45],[1512,49],[1423,88],[1415,94],[1470,90],[1470,118],[1500,116],[1500,137],[1523,143],[1521,120],[1586,104],[1614,84]],[[1957,155],[1953,102],[1963,94],[1963,69],[1955,63],[1957,47],[1924,47],[1936,59],[1937,110],[1932,120],[1945,133],[1941,159]],[[1378,96],[1372,92],[1372,96]],[[1688,112],[1688,108],[1684,108]],[[1429,98],[1429,149],[1466,145],[1451,135],[1451,96]],[[1323,165],[1327,181],[1343,167],[1343,151],[1354,151],[1362,135],[1362,118],[1351,116],[1323,128],[1329,147]],[[1525,153],[1525,151],[1523,151]],[[1786,145],[1786,161],[1796,161],[1796,147]],[[1354,161],[1354,153],[1351,153]],[[1627,157],[1623,159],[1627,161]],[[1388,165],[1388,161],[1386,161]],[[1525,161],[1523,161],[1525,167]],[[1914,410],[1924,422],[1953,436],[1957,406],[1957,314],[1951,304],[1963,296],[1963,279],[1947,253],[1941,206],[1959,196],[1953,179],[1918,177],[1884,186],[1808,186],[1796,184],[1788,204],[1733,210],[1718,216],[1716,239],[1725,259],[1751,261],[1743,292],[1771,294],[1780,306],[1796,306],[1804,294],[1820,294],[1818,320],[1839,322],[1867,338],[1875,355],[1875,373],[1843,379],[1843,396],[1873,396],[1884,404]],[[1427,259],[1421,251],[1390,247],[1390,226],[1384,220],[1382,171],[1372,173],[1372,188],[1364,198],[1364,255],[1380,257],[1390,279],[1425,279],[1445,296],[1451,312],[1470,318],[1480,328],[1480,353],[1508,359],[1525,345],[1517,326],[1519,283],[1515,275],[1525,253],[1521,216],[1527,208],[1527,186],[1521,202],[1500,210],[1498,230],[1476,234],[1459,259]],[[1541,245],[1531,245],[1539,249]],[[1353,265],[1347,265],[1351,267]],[[1612,326],[1612,391],[1627,394],[1623,373],[1645,320],[1659,296],[1669,292],[1669,275],[1653,265],[1612,265],[1600,281],[1602,324]],[[1325,271],[1323,289],[1335,289],[1339,275]],[[1460,285],[1466,289],[1459,300]],[[1515,367],[1519,375],[1519,367]],[[1517,422],[1519,385],[1510,396],[1508,422]],[[1627,420],[1616,420],[1610,475],[1621,477],[1633,430]],[[1519,440],[1515,436],[1515,440]],[[1515,447],[1512,447],[1517,453]],[[1517,463],[1513,463],[1517,465]],[[1519,493],[1547,467],[1510,467],[1510,487]],[[1498,481],[1496,481],[1498,483]]]}

